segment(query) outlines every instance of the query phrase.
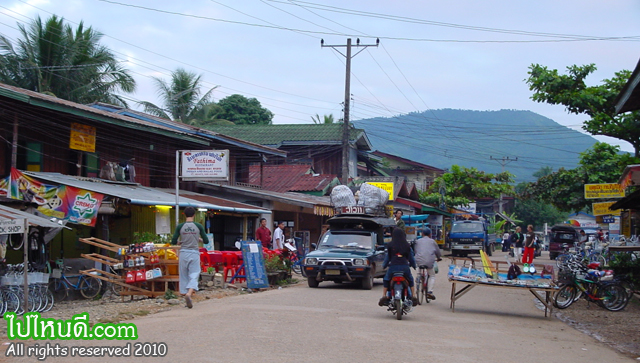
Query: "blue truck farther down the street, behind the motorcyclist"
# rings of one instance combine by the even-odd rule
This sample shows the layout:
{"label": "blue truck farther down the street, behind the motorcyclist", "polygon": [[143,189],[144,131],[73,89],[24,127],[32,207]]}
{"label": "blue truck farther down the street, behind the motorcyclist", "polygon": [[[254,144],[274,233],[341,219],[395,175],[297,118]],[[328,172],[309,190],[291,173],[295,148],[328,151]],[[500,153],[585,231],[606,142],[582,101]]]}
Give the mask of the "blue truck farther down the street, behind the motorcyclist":
{"label": "blue truck farther down the street, behind the motorcyclist", "polygon": [[466,256],[484,250],[491,256],[493,242],[485,221],[454,221],[449,232],[449,245],[454,256]]}

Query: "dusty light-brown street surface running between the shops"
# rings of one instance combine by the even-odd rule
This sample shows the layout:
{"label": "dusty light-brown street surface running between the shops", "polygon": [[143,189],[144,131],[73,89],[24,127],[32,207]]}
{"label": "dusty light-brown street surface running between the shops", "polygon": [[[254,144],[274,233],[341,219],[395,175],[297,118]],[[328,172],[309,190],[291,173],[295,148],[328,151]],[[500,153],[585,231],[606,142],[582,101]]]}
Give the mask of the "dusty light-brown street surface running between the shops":
{"label": "dusty light-brown street surface running between the shops", "polygon": [[[166,342],[167,362],[631,362],[608,346],[545,318],[527,291],[475,288],[449,310],[450,284],[438,275],[438,299],[402,321],[377,306],[372,291],[322,283],[202,301],[135,319],[137,342]],[[38,342],[42,344],[43,342]],[[126,341],[60,341],[124,345]],[[27,345],[34,344],[27,342]],[[6,358],[5,358],[6,359]],[[107,358],[109,361],[132,361]],[[9,358],[12,362],[35,358]],[[105,361],[67,357],[47,361]]]}

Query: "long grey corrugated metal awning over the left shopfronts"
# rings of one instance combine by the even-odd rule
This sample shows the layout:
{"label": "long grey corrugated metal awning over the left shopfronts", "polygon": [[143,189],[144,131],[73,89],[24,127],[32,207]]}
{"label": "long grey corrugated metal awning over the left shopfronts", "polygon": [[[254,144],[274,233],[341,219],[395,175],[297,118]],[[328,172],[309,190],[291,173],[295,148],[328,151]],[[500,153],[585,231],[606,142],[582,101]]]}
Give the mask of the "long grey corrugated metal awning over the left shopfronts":
{"label": "long grey corrugated metal awning over the left shopfronts", "polygon": [[[127,199],[134,205],[166,205],[175,206],[176,196],[175,194],[165,193],[160,189],[144,187],[134,183],[122,183],[122,182],[105,182],[102,179],[94,178],[76,178],[70,175],[64,175],[60,173],[43,173],[43,172],[23,172],[31,177],[46,180],[55,184],[69,185],[72,187],[90,190],[93,192],[102,193],[105,195]],[[219,210],[224,212],[238,212],[238,213],[271,213],[268,210],[260,208],[246,208],[243,211],[238,208],[227,207],[221,204],[213,204],[206,201],[200,201],[191,199],[180,195],[178,200],[180,207],[194,207],[194,208],[206,208]]]}

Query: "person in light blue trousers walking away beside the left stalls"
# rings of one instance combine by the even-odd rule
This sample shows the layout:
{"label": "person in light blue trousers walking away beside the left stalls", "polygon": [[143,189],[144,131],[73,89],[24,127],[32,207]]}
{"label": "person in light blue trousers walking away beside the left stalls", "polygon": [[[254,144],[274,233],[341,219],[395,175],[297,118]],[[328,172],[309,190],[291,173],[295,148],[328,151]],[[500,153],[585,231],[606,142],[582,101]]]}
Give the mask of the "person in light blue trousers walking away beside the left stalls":
{"label": "person in light blue trousers walking away beside the left stalls", "polygon": [[207,233],[202,224],[194,222],[196,210],[193,207],[184,209],[186,220],[176,226],[171,244],[180,245],[178,270],[180,273],[180,293],[189,309],[193,307],[191,297],[198,291],[200,277],[200,241],[207,241]]}

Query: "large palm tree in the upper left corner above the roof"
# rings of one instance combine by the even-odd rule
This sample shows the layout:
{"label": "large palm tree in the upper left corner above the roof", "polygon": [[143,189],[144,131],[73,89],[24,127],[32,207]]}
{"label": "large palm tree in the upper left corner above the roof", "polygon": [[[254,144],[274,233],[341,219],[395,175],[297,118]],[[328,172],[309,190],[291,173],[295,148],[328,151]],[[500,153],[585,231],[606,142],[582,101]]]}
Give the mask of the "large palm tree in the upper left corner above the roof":
{"label": "large palm tree in the upper left corner above the roof", "polygon": [[82,22],[74,30],[55,15],[18,28],[21,38],[15,45],[0,36],[1,82],[78,103],[127,107],[118,92],[133,93],[135,80],[100,45],[101,33]]}

